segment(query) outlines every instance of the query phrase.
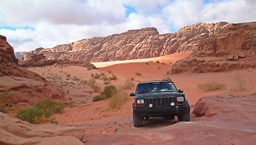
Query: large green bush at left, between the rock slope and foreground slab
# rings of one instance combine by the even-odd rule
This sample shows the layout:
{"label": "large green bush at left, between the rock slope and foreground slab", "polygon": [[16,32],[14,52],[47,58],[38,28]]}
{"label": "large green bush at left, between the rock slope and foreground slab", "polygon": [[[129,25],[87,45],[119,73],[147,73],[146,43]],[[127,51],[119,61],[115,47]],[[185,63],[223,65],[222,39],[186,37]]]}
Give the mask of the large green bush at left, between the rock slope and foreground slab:
{"label": "large green bush at left, between the rock slope and foreground slab", "polygon": [[17,113],[16,117],[23,121],[31,123],[42,123],[47,122],[48,117],[54,113],[60,113],[64,110],[64,104],[61,102],[54,102],[46,99],[36,103],[33,107],[28,107]]}

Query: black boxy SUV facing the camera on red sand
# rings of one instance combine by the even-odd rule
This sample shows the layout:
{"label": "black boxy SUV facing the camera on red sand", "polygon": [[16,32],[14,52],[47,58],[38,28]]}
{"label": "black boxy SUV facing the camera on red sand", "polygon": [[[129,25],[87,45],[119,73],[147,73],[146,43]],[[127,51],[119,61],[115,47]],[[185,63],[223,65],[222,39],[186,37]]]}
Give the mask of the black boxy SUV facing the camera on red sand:
{"label": "black boxy SUV facing the camera on red sand", "polygon": [[139,82],[133,107],[134,127],[142,126],[142,120],[149,117],[164,117],[173,120],[177,116],[180,122],[190,121],[189,103],[182,89],[177,89],[171,81]]}

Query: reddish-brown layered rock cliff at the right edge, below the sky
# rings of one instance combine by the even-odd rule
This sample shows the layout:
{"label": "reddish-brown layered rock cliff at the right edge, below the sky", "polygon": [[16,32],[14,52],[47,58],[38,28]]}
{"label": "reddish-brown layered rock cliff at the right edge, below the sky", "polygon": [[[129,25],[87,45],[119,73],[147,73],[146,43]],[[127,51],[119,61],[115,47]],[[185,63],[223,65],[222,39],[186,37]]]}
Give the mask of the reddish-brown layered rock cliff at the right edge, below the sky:
{"label": "reddish-brown layered rock cliff at the right edge, below the sky", "polygon": [[223,26],[198,43],[197,51],[172,67],[171,73],[227,72],[256,68],[256,23]]}

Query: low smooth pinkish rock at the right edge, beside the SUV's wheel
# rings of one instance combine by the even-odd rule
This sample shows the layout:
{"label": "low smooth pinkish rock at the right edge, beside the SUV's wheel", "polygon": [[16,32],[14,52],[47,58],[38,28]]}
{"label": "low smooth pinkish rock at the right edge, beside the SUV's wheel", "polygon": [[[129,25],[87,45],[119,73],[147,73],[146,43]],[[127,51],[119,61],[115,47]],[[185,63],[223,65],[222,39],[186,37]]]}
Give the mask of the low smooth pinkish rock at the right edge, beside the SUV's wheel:
{"label": "low smooth pinkish rock at the right edge, beside the SUV's wheel", "polygon": [[219,95],[200,98],[193,113],[207,124],[219,127],[235,128],[246,132],[255,132],[256,94],[248,96]]}

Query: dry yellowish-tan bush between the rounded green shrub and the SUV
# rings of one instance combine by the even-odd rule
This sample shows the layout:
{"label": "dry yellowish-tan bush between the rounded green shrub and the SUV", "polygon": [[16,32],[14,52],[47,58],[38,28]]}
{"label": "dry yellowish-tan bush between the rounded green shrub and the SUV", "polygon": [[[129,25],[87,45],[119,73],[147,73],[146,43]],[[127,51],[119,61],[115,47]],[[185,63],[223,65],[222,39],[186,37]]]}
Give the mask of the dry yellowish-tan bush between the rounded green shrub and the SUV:
{"label": "dry yellowish-tan bush between the rounded green shrub and the SUV", "polygon": [[109,99],[108,105],[110,108],[120,108],[128,100],[127,94],[120,89]]}

